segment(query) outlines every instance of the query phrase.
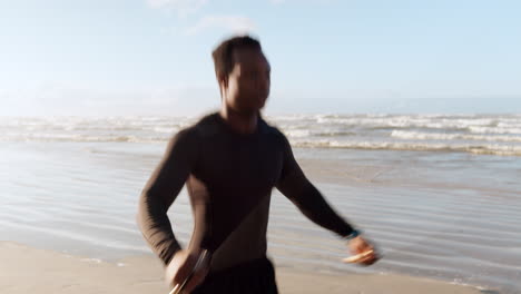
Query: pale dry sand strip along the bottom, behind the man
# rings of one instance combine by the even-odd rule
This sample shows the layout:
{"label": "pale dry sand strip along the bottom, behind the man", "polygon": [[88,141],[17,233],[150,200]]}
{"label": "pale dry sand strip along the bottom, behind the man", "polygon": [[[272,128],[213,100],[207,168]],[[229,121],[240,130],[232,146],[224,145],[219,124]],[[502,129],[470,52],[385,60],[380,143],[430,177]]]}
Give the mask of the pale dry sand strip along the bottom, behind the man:
{"label": "pale dry sand strip along the bottom, behind the man", "polygon": [[[108,263],[18,243],[0,243],[0,292],[26,293],[167,293],[160,263],[151,256]],[[400,275],[331,275],[276,268],[281,293],[491,293],[462,285]]]}

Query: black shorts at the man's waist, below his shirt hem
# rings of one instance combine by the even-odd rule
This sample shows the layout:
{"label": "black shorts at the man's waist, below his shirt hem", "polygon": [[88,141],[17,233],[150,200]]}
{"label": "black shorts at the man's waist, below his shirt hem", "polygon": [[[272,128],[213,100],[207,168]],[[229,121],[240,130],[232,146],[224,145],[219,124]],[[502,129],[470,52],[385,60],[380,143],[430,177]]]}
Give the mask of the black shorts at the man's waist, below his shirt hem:
{"label": "black shorts at the man's waist, below his shirt hem", "polygon": [[193,294],[278,294],[275,270],[267,257],[209,273]]}

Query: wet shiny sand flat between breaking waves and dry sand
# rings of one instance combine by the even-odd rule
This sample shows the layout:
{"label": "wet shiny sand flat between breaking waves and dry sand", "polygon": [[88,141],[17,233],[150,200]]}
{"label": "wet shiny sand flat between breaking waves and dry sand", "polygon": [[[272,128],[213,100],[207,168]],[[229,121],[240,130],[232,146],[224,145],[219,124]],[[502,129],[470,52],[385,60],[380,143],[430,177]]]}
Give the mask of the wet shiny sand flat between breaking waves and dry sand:
{"label": "wet shiny sand flat between breaking waves and dry sand", "polygon": [[[136,226],[136,202],[163,148],[0,144],[0,238],[109,263],[138,255],[153,258]],[[294,151],[333,207],[376,242],[384,258],[370,267],[340,263],[346,257],[345,245],[275,189],[268,254],[282,275],[285,271],[313,276],[386,273],[520,293],[520,158]],[[193,217],[185,192],[169,217],[176,236],[187,244]]]}

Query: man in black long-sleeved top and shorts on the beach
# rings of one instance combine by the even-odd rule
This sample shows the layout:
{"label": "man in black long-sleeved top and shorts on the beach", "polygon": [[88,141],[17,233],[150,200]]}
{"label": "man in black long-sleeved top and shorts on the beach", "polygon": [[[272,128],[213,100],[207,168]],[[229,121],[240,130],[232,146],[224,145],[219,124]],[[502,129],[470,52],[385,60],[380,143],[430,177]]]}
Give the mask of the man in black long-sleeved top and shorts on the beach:
{"label": "man in black long-sleeved top and shorts on the beach", "polygon": [[[250,37],[235,37],[213,52],[222,96],[218,112],[169,141],[139,200],[138,224],[166,267],[167,283],[184,293],[278,293],[266,257],[273,187],[314,223],[348,242],[352,253],[377,254],[326,203],[296,163],[286,137],[260,117],[269,94],[269,63]],[[186,183],[195,226],[188,248],[173,233],[167,210]],[[194,275],[196,259],[209,253]]]}

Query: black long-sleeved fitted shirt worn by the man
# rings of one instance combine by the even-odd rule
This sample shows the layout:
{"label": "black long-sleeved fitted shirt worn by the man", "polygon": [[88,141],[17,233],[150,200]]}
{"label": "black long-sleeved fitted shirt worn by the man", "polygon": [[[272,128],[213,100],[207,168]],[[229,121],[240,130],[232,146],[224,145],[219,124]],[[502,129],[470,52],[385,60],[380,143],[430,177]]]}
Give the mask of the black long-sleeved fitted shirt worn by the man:
{"label": "black long-sleeved fitted shirt worn by the man", "polygon": [[260,116],[256,131],[244,135],[214,112],[169,141],[141,193],[137,217],[145,239],[165,265],[181,248],[167,210],[185,183],[195,219],[189,246],[212,253],[210,271],[266,254],[274,187],[307,218],[340,237],[353,231],[305,177],[286,137]]}

